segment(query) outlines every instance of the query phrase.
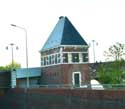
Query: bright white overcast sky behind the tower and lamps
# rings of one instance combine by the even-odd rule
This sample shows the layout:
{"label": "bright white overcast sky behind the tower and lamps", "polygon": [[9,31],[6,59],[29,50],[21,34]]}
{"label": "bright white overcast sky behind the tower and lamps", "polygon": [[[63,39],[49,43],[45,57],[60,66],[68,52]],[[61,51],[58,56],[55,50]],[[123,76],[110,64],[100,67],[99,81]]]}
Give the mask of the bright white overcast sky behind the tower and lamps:
{"label": "bright white overcast sky behind the tower and lamps", "polygon": [[15,24],[27,30],[28,66],[39,67],[39,51],[59,16],[67,16],[90,45],[90,62],[93,62],[92,40],[98,43],[95,44],[98,62],[105,61],[103,53],[111,45],[125,44],[124,0],[0,0],[0,66],[11,62],[8,44],[14,43],[14,60],[26,67],[25,32],[10,26]]}

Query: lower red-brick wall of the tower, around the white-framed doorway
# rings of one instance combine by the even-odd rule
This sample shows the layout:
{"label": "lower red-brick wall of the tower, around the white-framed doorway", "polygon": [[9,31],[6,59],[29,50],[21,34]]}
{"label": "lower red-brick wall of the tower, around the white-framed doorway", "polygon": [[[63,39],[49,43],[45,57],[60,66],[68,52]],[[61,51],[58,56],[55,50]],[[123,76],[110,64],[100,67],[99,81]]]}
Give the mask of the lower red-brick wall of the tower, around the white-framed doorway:
{"label": "lower red-brick wall of the tower, around the white-framed doorway", "polygon": [[41,84],[72,84],[73,72],[81,72],[82,84],[90,79],[88,64],[61,64],[42,69]]}

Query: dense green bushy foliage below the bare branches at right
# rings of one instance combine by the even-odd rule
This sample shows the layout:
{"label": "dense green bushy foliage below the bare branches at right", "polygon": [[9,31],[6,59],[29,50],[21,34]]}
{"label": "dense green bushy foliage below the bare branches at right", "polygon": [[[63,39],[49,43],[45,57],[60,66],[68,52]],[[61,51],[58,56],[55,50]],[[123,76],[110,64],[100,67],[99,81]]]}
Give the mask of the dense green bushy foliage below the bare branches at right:
{"label": "dense green bushy foliage below the bare branches at right", "polygon": [[123,64],[120,63],[121,61],[100,64],[97,69],[99,81],[102,84],[121,84],[125,73],[122,69]]}

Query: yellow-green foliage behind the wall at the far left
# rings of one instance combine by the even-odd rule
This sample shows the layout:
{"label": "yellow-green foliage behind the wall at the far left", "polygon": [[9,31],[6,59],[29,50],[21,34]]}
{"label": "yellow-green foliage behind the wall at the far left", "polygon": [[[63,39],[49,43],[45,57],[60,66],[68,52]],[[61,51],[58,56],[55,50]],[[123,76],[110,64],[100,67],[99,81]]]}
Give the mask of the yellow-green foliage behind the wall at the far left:
{"label": "yellow-green foliage behind the wall at the far left", "polygon": [[17,68],[21,68],[21,65],[19,63],[16,63],[16,62],[13,62],[6,65],[6,66],[1,66],[0,67],[0,70],[2,71],[9,71],[9,70],[12,70],[12,69],[17,69]]}

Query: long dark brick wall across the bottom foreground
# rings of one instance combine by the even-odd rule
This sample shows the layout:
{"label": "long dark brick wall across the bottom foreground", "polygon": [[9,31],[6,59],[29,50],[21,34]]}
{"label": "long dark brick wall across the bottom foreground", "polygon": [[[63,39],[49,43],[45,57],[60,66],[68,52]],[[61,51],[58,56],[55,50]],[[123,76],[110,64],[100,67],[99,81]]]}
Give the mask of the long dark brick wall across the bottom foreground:
{"label": "long dark brick wall across the bottom foreground", "polygon": [[124,90],[11,89],[2,109],[125,109]]}

